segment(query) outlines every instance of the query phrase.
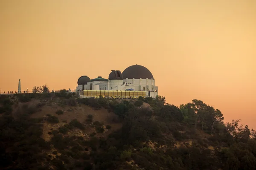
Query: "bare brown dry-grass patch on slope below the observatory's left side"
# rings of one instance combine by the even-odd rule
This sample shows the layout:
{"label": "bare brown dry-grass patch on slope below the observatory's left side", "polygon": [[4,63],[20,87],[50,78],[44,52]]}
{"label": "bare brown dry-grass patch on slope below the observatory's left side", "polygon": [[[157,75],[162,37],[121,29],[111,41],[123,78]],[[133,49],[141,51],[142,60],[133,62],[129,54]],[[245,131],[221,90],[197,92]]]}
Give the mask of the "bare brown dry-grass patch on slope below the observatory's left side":
{"label": "bare brown dry-grass patch on slope below the observatory's left side", "polygon": [[[15,106],[15,111],[23,107],[23,105],[28,105],[29,107],[35,107],[38,103],[45,103],[44,101],[32,99],[30,102],[26,103],[17,103]],[[46,102],[48,103],[48,102]],[[56,111],[61,110],[63,114],[57,114]],[[53,115],[58,117],[59,123],[51,124],[47,122],[47,115]],[[75,135],[75,136],[82,136],[84,139],[89,139],[90,134],[96,132],[95,127],[92,127],[86,124],[85,120],[87,119],[88,115],[93,115],[93,122],[99,121],[102,122],[104,133],[96,133],[96,137],[105,137],[108,136],[114,130],[118,130],[122,127],[122,123],[118,121],[118,116],[113,112],[108,112],[105,108],[100,110],[94,110],[93,108],[87,105],[77,105],[77,106],[68,106],[68,105],[58,105],[58,102],[52,102],[51,105],[47,104],[42,106],[39,111],[33,113],[31,118],[45,118],[43,123],[43,135],[42,138],[46,141],[50,141],[52,138],[52,130],[58,130],[59,127],[69,123],[73,119],[77,119],[79,122],[85,125],[85,130],[73,129],[69,131],[66,135]],[[14,115],[15,116],[15,115]],[[93,123],[91,122],[91,124]],[[106,125],[110,125],[111,129],[107,129]]]}

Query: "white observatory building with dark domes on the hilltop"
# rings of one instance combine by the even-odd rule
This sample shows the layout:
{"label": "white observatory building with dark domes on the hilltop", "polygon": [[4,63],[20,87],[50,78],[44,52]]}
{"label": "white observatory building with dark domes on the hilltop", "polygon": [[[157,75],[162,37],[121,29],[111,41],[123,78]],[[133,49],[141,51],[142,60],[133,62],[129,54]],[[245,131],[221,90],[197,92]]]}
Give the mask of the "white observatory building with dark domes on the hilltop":
{"label": "white observatory building with dark domes on the hilltop", "polygon": [[112,70],[108,79],[97,77],[90,79],[87,76],[79,77],[76,91],[81,91],[82,96],[109,96],[132,97],[138,96],[155,98],[158,87],[152,73],[142,65],[131,65],[122,73]]}

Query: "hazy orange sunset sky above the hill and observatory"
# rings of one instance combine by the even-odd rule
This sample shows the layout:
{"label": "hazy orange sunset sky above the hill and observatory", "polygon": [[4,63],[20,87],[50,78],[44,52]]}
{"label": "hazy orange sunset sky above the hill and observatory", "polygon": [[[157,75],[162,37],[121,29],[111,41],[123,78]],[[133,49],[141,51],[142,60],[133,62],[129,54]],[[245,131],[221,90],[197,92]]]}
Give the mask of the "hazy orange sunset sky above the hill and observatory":
{"label": "hazy orange sunset sky above the hill and observatory", "polygon": [[200,99],[256,128],[255,0],[1,0],[0,57],[2,92],[138,64],[168,103]]}

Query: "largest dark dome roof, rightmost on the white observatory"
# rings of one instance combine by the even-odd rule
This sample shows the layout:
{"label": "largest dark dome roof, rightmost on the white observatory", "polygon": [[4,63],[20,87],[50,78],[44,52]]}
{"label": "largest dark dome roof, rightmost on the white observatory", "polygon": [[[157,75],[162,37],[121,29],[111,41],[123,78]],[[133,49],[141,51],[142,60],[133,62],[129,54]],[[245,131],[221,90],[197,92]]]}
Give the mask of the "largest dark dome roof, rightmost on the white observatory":
{"label": "largest dark dome roof, rightmost on the white observatory", "polygon": [[126,68],[123,72],[123,79],[154,79],[152,73],[142,65],[131,65],[130,67]]}

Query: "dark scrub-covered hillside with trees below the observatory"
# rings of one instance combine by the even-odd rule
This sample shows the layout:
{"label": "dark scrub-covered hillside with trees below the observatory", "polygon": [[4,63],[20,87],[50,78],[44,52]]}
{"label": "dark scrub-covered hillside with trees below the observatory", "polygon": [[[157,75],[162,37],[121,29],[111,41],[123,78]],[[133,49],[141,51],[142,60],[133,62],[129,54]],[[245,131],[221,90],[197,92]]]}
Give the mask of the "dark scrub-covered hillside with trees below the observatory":
{"label": "dark scrub-covered hillside with trees below the observatory", "polygon": [[0,96],[0,169],[254,170],[256,133],[200,100]]}

